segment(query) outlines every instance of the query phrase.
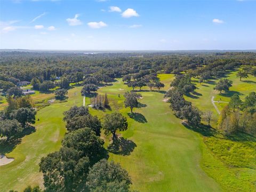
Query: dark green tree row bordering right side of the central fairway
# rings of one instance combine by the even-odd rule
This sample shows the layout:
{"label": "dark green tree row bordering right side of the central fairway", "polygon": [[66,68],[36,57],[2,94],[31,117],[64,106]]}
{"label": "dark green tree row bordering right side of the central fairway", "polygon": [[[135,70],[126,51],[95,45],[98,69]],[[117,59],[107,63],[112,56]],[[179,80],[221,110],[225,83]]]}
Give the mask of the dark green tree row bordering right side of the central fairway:
{"label": "dark green tree row bordering right side of the central fairway", "polygon": [[169,98],[168,102],[171,103],[171,108],[177,117],[185,119],[191,126],[201,124],[201,111],[186,101],[179,89],[170,89],[166,92],[165,97]]}

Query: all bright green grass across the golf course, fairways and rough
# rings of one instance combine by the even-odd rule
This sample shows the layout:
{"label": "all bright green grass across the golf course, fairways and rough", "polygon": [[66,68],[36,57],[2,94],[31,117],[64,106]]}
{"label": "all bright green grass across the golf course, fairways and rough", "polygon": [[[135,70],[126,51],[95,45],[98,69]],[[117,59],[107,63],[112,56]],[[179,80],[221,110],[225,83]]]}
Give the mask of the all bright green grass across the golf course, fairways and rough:
{"label": "all bright green grass across the golf course, fairways and rough", "polygon": [[[229,74],[229,78],[234,81],[234,87],[230,91],[233,88],[237,90],[237,87],[242,89],[245,85],[241,86],[241,83],[251,85],[255,81],[254,77],[250,76],[247,80],[251,82],[237,82],[235,75],[235,72]],[[140,107],[134,109],[134,114],[130,114],[129,108],[124,108],[123,94],[131,89],[121,79],[98,90],[99,94],[108,94],[111,109],[101,111],[90,108],[91,113],[100,118],[112,111],[120,111],[127,117],[129,129],[119,133],[124,137],[125,149],[121,154],[110,153],[109,159],[121,163],[129,172],[133,181],[132,189],[253,191],[256,175],[251,150],[254,147],[253,142],[202,137],[200,133],[187,129],[181,124],[181,120],[173,115],[169,103],[163,101],[164,90],[169,89],[173,75],[159,74],[159,78],[165,84],[164,89],[158,92],[142,87],[139,93],[143,98],[139,100]],[[197,83],[197,79],[194,81]],[[223,101],[228,101],[230,95],[218,95],[218,92],[213,90],[215,82],[216,80],[213,80],[202,85],[197,83],[197,93],[186,99],[201,110],[214,111],[216,120],[218,114],[212,106],[211,97],[223,97]],[[69,90],[68,102],[53,103],[38,111],[36,132],[26,135],[21,144],[7,154],[8,157],[15,158],[14,162],[0,167],[1,191],[11,188],[20,190],[27,185],[43,185],[38,163],[42,156],[59,149],[66,132],[62,113],[71,106],[82,105],[80,90],[81,87]],[[247,94],[247,90],[237,91],[241,92],[242,98]],[[90,98],[86,98],[85,103],[90,105]],[[107,148],[111,140],[103,135],[102,138],[105,139]],[[227,149],[236,150],[237,154],[234,155],[234,152],[231,153]],[[245,156],[247,160],[241,161],[241,157],[248,154],[249,156]],[[233,164],[236,167],[232,167]]]}

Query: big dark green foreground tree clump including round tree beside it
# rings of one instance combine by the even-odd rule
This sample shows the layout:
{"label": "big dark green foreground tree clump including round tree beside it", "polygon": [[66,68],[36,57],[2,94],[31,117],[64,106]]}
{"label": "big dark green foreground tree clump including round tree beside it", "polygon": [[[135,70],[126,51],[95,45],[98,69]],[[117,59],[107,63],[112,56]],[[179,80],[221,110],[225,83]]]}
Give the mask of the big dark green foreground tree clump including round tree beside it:
{"label": "big dark green foreground tree clump including round tree beside it", "polygon": [[[68,133],[59,151],[41,159],[45,191],[130,191],[131,178],[119,164],[108,162],[100,138],[101,122],[87,107],[71,107],[64,113]],[[120,113],[107,114],[102,127],[105,134],[127,129]]]}

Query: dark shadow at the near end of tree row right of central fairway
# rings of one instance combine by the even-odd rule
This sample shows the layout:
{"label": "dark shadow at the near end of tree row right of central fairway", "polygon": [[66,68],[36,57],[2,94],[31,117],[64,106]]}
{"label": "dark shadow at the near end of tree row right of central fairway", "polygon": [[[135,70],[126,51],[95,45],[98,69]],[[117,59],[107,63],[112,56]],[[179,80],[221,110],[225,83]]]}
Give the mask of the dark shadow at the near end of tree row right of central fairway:
{"label": "dark shadow at the near end of tree row right of central fairway", "polygon": [[210,137],[217,133],[217,131],[213,129],[211,126],[204,124],[200,124],[198,126],[191,126],[186,122],[182,122],[182,125],[184,125],[189,130],[202,134],[205,137]]}

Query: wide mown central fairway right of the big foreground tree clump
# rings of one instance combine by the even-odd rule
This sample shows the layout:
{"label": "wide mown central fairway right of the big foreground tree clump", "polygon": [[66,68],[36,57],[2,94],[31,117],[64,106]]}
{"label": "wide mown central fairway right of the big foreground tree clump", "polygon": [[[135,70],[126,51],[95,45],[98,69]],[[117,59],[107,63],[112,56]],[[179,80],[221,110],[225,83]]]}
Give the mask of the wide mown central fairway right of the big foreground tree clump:
{"label": "wide mown central fairway right of the big foreground tree clump", "polygon": [[[169,89],[173,75],[159,77],[165,83],[164,90]],[[130,109],[124,108],[123,94],[127,90],[131,89],[118,79],[113,86],[102,87],[98,92],[107,93],[111,110],[120,111],[129,122],[129,129],[120,134],[136,147],[131,149],[130,155],[110,153],[109,159],[119,162],[129,172],[132,188],[139,191],[220,191],[218,183],[200,167],[202,140],[173,115],[169,103],[162,101],[163,92],[142,87],[139,92],[143,97],[139,100],[142,107],[134,109],[136,120],[129,117]],[[104,115],[94,109],[91,113]],[[105,140],[107,147],[111,141],[108,137]]]}

